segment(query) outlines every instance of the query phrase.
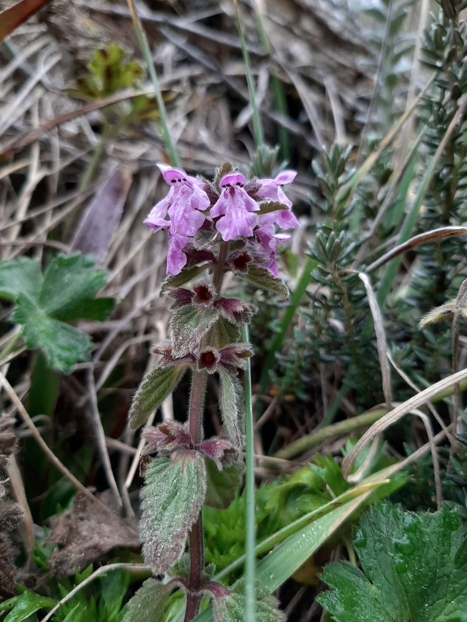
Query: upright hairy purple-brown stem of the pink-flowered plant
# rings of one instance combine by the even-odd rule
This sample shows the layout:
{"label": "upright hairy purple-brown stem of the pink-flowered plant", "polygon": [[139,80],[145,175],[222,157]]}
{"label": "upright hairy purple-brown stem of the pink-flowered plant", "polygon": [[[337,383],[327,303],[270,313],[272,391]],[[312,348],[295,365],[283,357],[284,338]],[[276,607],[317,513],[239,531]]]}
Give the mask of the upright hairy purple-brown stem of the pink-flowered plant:
{"label": "upright hairy purple-brown stem of the pink-flowered plant", "polygon": [[[219,259],[212,276],[215,294],[218,296],[222,288],[225,273],[225,258],[229,250],[228,242],[221,242],[219,248]],[[207,345],[210,340],[208,334],[201,343]],[[204,397],[206,392],[206,372],[194,371],[191,384],[191,400],[189,410],[189,430],[193,442],[197,445],[202,439]],[[200,603],[200,596],[197,593],[201,585],[201,573],[204,568],[204,548],[203,548],[203,524],[201,513],[190,532],[190,591],[187,593],[186,610],[184,622],[191,622],[197,615]]]}

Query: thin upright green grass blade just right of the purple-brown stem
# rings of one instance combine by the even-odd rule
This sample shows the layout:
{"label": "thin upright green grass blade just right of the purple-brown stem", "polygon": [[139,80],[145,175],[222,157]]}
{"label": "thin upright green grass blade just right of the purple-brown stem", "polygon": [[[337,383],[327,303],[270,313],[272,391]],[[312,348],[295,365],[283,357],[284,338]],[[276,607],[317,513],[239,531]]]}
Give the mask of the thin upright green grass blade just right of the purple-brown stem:
{"label": "thin upright green grass blade just right of the purple-brown stem", "polygon": [[[242,339],[245,343],[250,341],[248,325],[243,325]],[[256,501],[255,501],[255,471],[253,470],[253,409],[252,409],[252,373],[250,359],[245,371],[245,618],[255,620],[256,596],[255,596],[255,570],[256,570]]]}

